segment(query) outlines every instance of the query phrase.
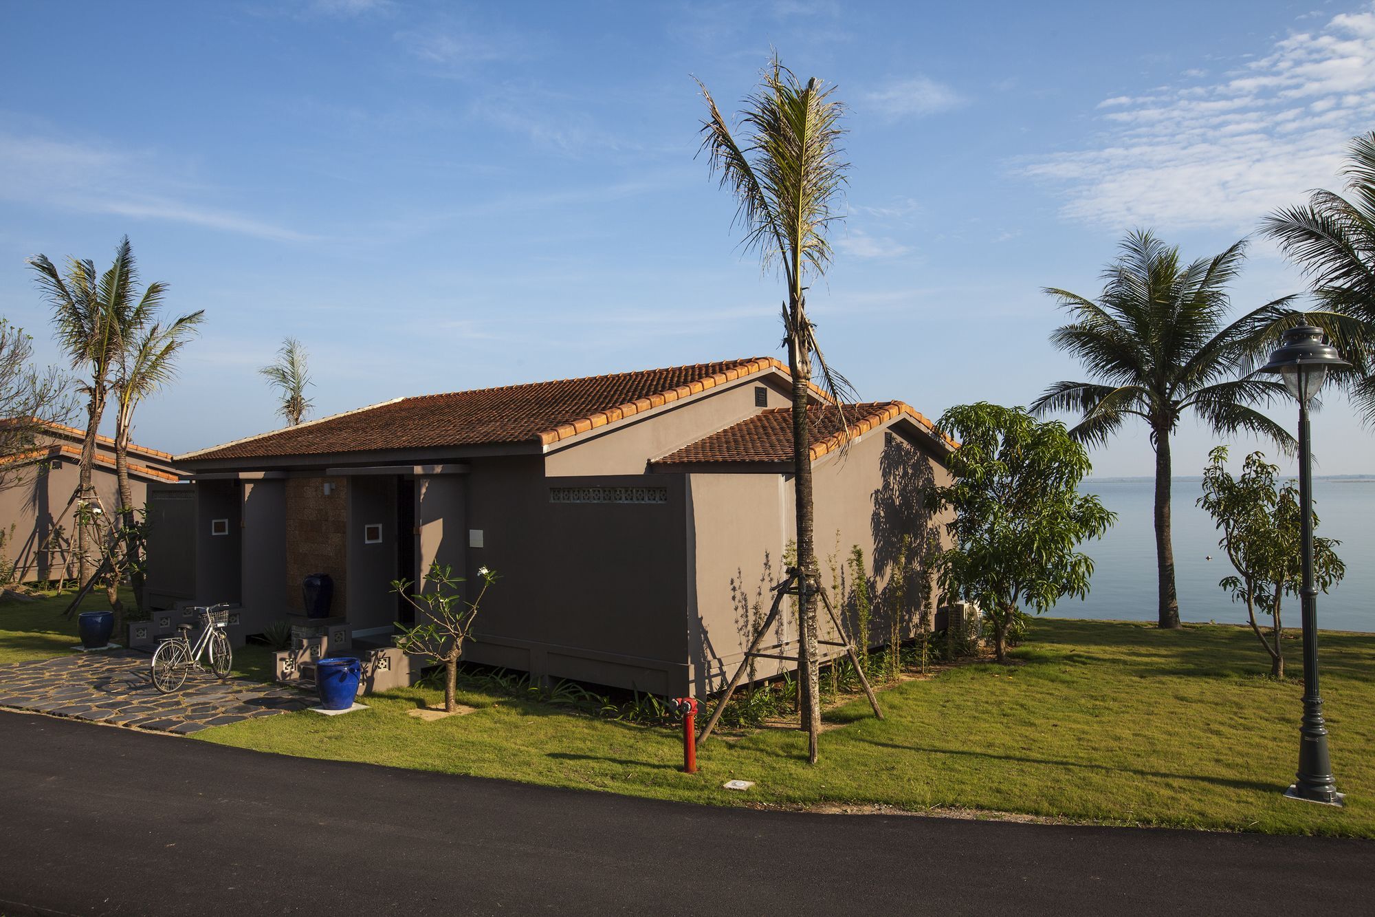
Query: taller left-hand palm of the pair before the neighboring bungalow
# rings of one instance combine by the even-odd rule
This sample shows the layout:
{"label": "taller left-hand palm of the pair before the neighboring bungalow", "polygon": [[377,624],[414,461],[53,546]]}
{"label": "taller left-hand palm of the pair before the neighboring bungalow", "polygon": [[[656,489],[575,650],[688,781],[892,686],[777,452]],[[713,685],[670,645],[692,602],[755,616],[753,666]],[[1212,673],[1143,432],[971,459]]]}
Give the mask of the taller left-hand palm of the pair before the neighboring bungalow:
{"label": "taller left-hand palm of the pair before the neighboring bungalow", "polygon": [[[73,369],[88,373],[81,380],[80,392],[87,398],[87,428],[81,442],[80,485],[76,500],[82,504],[95,500],[91,470],[95,464],[95,436],[104,414],[110,373],[124,347],[122,329],[138,310],[157,311],[166,286],[148,284],[142,297],[135,296],[138,270],[129,237],[125,235],[114,251],[114,263],[99,278],[91,260],[67,259],[66,275],[44,255],[29,259],[38,274],[38,286],[52,304],[52,324],[58,344],[72,361]],[[82,522],[88,514],[77,514],[77,565],[82,585],[87,580],[87,534]]]}

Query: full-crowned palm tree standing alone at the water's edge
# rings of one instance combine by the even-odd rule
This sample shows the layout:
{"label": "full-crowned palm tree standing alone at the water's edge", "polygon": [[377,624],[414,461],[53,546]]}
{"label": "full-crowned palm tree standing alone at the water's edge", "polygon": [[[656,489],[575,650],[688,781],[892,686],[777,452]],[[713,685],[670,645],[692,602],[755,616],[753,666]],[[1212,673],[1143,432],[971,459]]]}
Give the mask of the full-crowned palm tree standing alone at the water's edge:
{"label": "full-crowned palm tree standing alone at the water's edge", "polygon": [[1178,248],[1150,231],[1133,231],[1104,270],[1097,302],[1045,291],[1072,319],[1055,329],[1050,341],[1078,357],[1093,380],[1056,383],[1031,409],[1081,414],[1071,434],[1094,445],[1106,443],[1128,417],[1141,419],[1151,432],[1162,628],[1180,626],[1170,541],[1170,436],[1180,419],[1192,410],[1218,435],[1246,432],[1287,452],[1294,447],[1283,427],[1251,408],[1283,397],[1284,386],[1246,369],[1279,328],[1301,317],[1288,308],[1292,297],[1284,297],[1224,325],[1226,286],[1240,271],[1244,249],[1240,241],[1184,266]]}

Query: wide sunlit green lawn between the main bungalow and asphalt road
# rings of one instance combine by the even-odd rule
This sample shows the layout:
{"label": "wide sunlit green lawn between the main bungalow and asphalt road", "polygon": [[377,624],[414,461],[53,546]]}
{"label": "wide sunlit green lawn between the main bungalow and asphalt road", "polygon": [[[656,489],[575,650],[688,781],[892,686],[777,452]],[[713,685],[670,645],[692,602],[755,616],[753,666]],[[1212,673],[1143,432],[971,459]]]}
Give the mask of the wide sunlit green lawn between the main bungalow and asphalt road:
{"label": "wide sunlit green lawn between the main bungalow and asphalt road", "polygon": [[[1299,668],[1298,642],[1290,665]],[[463,693],[476,713],[407,716],[439,693],[366,698],[340,717],[250,720],[195,738],[242,748],[715,804],[886,804],[1132,825],[1375,837],[1375,636],[1323,637],[1323,694],[1345,810],[1283,799],[1301,687],[1275,684],[1248,631],[1038,620],[1018,665],[972,664],[830,710],[822,757],[806,737],[712,738],[679,772],[678,734]],[[756,781],[747,793],[730,778]]]}

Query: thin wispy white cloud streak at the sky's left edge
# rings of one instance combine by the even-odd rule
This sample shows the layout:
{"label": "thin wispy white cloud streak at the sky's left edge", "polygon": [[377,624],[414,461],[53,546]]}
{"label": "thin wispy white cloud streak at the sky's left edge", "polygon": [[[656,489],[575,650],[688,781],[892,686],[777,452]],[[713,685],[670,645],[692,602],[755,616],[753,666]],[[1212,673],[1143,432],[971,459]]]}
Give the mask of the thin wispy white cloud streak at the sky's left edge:
{"label": "thin wispy white cloud streak at the sky's left edge", "polygon": [[198,189],[168,178],[172,171],[147,153],[0,134],[3,200],[78,213],[186,223],[276,241],[311,238],[243,213],[198,204],[194,201]]}

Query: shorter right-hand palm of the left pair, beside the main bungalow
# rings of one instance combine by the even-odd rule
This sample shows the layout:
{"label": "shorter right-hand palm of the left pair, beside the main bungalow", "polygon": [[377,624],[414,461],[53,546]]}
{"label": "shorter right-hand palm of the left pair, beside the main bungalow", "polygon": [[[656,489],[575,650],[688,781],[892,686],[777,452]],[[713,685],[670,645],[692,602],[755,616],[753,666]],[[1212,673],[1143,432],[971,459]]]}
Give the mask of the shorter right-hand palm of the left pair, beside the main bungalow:
{"label": "shorter right-hand palm of the left pair, beside the main bungalow", "polygon": [[[177,351],[197,333],[205,310],[182,315],[170,324],[154,321],[154,314],[140,303],[121,329],[118,376],[113,383],[114,474],[120,485],[121,529],[125,538],[125,566],[133,588],[135,606],[143,607],[143,571],[139,563],[139,538],[135,527],[133,489],[129,485],[129,442],[133,438],[133,412],[139,402],[176,376]],[[118,626],[118,621],[116,625]]]}

